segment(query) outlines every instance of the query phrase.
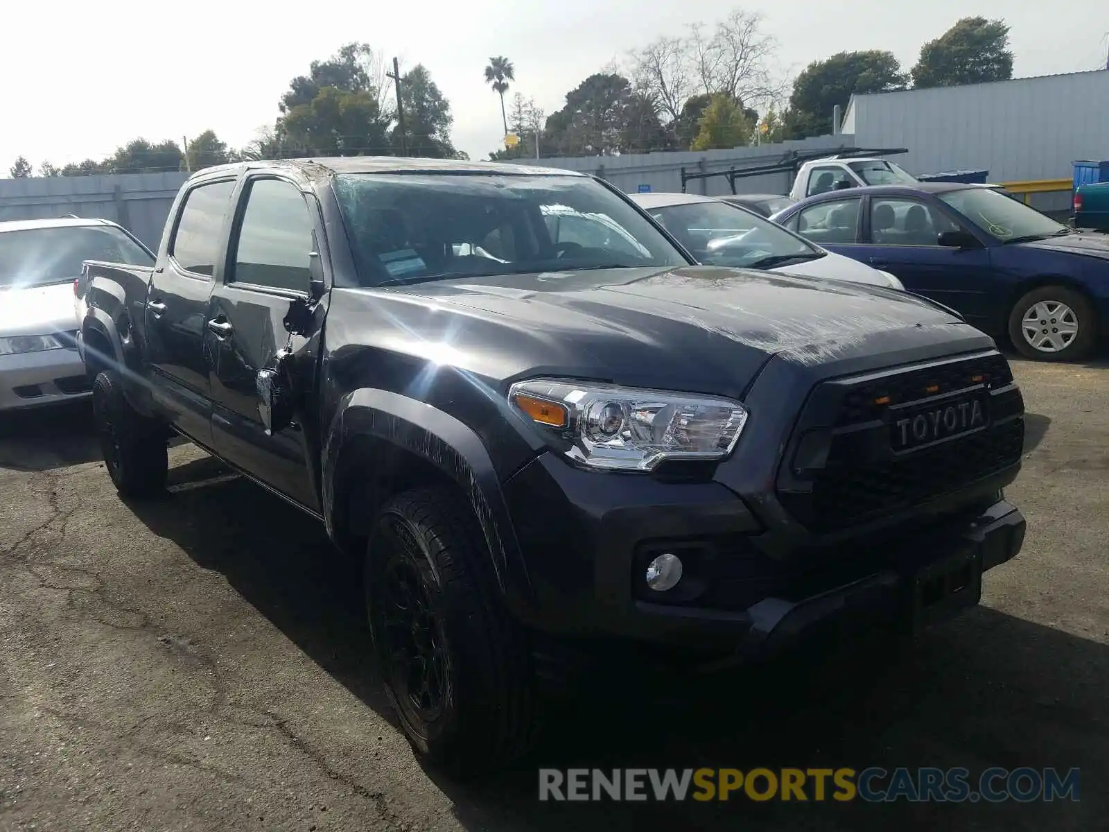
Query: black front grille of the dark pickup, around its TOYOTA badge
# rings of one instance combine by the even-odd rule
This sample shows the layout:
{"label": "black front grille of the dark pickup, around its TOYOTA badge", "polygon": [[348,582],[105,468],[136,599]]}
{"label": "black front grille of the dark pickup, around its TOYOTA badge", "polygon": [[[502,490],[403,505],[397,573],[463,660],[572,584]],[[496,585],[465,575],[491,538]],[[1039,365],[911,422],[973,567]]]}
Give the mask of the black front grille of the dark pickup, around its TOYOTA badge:
{"label": "black front grille of the dark pickup, around its TOYOTA badge", "polygon": [[[977,379],[977,381],[973,381]],[[990,422],[977,433],[895,454],[891,407],[976,388],[989,396]],[[881,403],[881,404],[877,404]],[[804,469],[794,457],[779,497],[811,531],[830,532],[920,505],[1004,471],[1024,450],[1024,402],[1000,355],[817,387],[798,433],[817,437]],[[792,451],[791,451],[792,453]]]}

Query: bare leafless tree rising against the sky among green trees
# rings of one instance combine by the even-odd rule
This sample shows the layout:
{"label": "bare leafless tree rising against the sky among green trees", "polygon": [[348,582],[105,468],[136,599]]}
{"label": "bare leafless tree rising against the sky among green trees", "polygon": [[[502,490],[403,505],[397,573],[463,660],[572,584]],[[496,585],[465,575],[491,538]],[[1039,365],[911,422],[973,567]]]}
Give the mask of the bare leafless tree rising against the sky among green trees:
{"label": "bare leafless tree rising against the sky among green trees", "polygon": [[711,31],[692,23],[685,35],[660,38],[633,51],[631,74],[673,124],[691,98],[704,97],[705,103],[716,93],[752,103],[777,98],[781,84],[770,65],[776,49],[776,40],[762,33],[760,14],[735,9]]}

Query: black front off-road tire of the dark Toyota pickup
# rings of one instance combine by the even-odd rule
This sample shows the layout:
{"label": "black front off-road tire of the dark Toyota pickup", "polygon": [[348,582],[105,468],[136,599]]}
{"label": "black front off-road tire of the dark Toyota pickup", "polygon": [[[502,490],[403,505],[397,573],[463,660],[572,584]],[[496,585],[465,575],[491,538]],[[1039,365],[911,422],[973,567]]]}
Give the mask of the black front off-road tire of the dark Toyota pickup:
{"label": "black front off-road tire of the dark Toyota pickup", "polygon": [[[435,660],[444,670],[441,707],[430,714],[409,696],[408,688],[419,686],[405,681],[411,672],[398,670],[406,661],[393,658],[397,640],[404,640],[396,619],[404,592],[390,588],[401,574],[418,577],[429,629],[441,647],[441,659]],[[456,777],[474,777],[521,757],[536,729],[527,637],[505,608],[485,537],[468,506],[438,488],[393,498],[372,528],[365,575],[378,667],[417,757]]]}

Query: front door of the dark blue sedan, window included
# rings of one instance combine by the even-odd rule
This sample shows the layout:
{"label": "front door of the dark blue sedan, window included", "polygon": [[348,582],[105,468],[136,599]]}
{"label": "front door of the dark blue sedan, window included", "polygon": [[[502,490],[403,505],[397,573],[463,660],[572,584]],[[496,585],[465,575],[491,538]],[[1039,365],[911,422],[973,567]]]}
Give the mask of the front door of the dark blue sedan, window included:
{"label": "front door of the dark blue sedan, window included", "polygon": [[867,262],[895,275],[905,288],[949,306],[974,326],[997,328],[998,277],[989,250],[939,245],[945,231],[960,227],[935,205],[905,196],[872,197]]}

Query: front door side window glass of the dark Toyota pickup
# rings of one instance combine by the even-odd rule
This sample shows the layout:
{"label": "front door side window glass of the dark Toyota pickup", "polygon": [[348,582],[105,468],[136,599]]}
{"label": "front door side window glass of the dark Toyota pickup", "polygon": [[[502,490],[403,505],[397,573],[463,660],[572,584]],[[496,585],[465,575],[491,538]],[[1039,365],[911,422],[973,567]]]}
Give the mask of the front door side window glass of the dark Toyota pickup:
{"label": "front door side window glass of the dark Toyota pickup", "polygon": [[312,216],[301,191],[275,179],[255,180],[246,197],[231,280],[307,292]]}

